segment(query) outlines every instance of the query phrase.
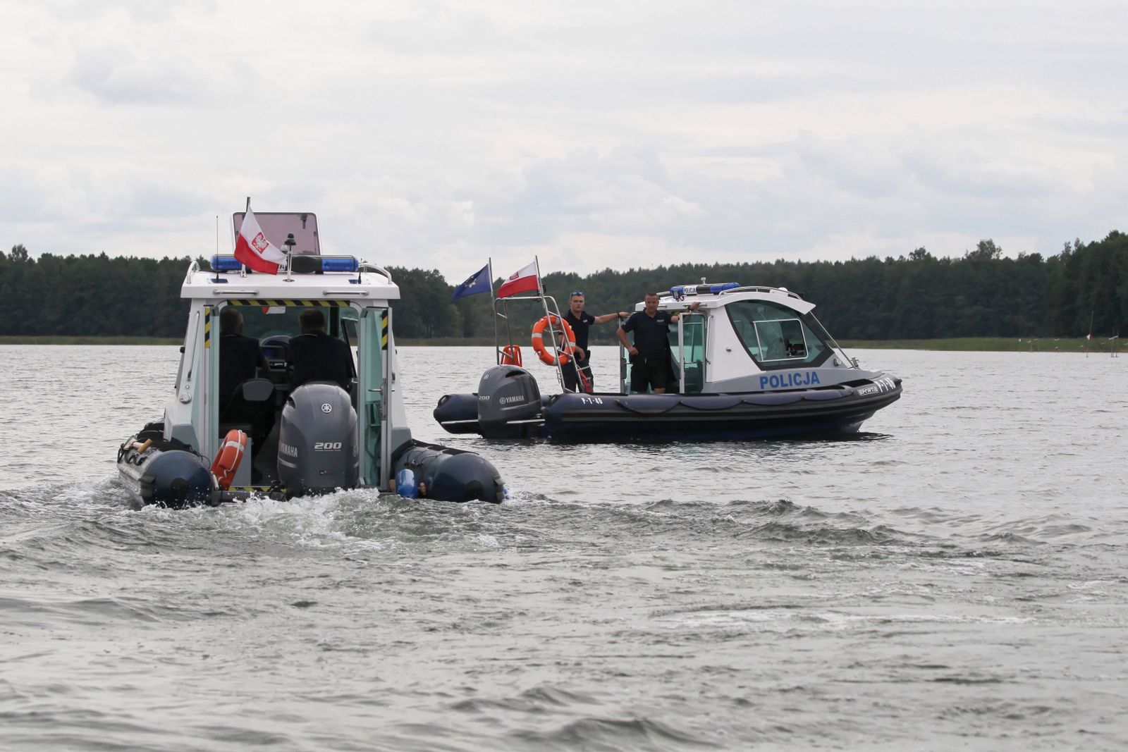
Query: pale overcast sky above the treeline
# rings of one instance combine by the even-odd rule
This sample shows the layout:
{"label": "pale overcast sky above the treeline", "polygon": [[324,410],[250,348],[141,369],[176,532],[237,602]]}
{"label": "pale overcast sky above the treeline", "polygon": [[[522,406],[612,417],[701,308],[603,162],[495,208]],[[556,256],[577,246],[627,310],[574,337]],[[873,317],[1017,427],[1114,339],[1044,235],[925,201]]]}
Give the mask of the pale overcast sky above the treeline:
{"label": "pale overcast sky above the treeline", "polygon": [[3,7],[33,255],[230,253],[248,195],[452,283],[1128,231],[1122,0]]}

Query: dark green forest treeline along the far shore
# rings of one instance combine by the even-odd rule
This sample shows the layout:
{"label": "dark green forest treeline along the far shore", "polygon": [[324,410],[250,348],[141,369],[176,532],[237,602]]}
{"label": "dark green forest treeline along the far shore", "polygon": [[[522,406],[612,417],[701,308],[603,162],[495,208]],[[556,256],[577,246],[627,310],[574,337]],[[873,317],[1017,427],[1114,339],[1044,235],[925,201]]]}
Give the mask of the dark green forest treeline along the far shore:
{"label": "dark green forest treeline along the far shore", "polygon": [[[0,251],[0,335],[180,337],[187,304],[179,289],[190,260],[106,254],[36,259],[23,246]],[[451,303],[453,285],[438,269],[389,271],[402,295],[393,306],[397,336],[493,336],[488,295]],[[994,241],[984,240],[962,258],[936,258],[917,248],[884,259],[684,264],[588,276],[554,272],[544,276],[544,286],[562,310],[571,292],[582,290],[588,311],[598,316],[631,310],[646,291],[702,277],[797,292],[817,304],[816,315],[840,339],[1078,337],[1090,326],[1094,337],[1107,337],[1128,324],[1128,236],[1118,231],[1087,245],[1066,244],[1049,257],[1005,258]],[[523,343],[540,312],[523,302],[511,304],[509,313],[513,339]],[[505,322],[499,326],[504,333]],[[614,327],[596,327],[592,336],[613,342]]]}

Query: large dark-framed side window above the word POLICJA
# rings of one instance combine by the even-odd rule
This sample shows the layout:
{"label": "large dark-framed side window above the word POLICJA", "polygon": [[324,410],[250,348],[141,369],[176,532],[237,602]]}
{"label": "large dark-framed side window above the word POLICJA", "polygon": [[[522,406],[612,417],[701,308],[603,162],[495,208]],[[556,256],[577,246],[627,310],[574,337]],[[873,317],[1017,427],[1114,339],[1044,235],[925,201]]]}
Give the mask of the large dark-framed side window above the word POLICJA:
{"label": "large dark-framed side window above the word POLICJA", "polygon": [[725,309],[748,354],[766,371],[818,365],[830,355],[809,315],[764,300],[742,300]]}

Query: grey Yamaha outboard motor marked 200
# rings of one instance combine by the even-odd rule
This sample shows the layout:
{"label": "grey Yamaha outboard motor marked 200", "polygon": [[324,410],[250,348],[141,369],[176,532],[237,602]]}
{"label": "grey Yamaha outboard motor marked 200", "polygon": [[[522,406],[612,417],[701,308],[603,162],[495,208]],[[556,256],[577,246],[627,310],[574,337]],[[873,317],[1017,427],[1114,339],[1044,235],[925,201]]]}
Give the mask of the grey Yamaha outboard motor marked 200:
{"label": "grey Yamaha outboard motor marked 200", "polygon": [[356,410],[335,383],[290,392],[279,430],[279,480],[288,496],[352,488],[360,480]]}

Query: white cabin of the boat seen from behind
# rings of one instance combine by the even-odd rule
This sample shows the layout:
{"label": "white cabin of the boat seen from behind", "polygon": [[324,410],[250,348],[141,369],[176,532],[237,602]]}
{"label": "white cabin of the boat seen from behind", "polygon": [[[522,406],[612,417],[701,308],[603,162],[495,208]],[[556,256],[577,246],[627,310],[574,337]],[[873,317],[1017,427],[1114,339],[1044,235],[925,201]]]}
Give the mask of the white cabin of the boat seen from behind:
{"label": "white cabin of the boat seen from behind", "polygon": [[[236,233],[241,219],[241,213],[233,218]],[[399,299],[399,289],[386,269],[352,256],[321,255],[312,213],[261,213],[256,219],[272,244],[291,251],[290,269],[255,273],[224,255],[214,256],[211,268],[192,263],[180,287],[180,297],[190,301],[188,324],[175,396],[165,409],[165,437],[213,457],[227,432],[241,428],[250,436],[247,454],[253,461],[240,465],[233,487],[274,484],[280,417],[296,386],[289,342],[301,334],[302,311],[316,309],[328,336],[344,342],[352,357],[346,391],[355,410],[359,484],[387,488],[391,452],[411,440],[391,334],[391,302]],[[232,308],[240,313],[241,334],[258,340],[266,366],[221,399],[220,321]],[[332,406],[321,408],[327,413]],[[284,459],[287,448],[281,450]]]}

